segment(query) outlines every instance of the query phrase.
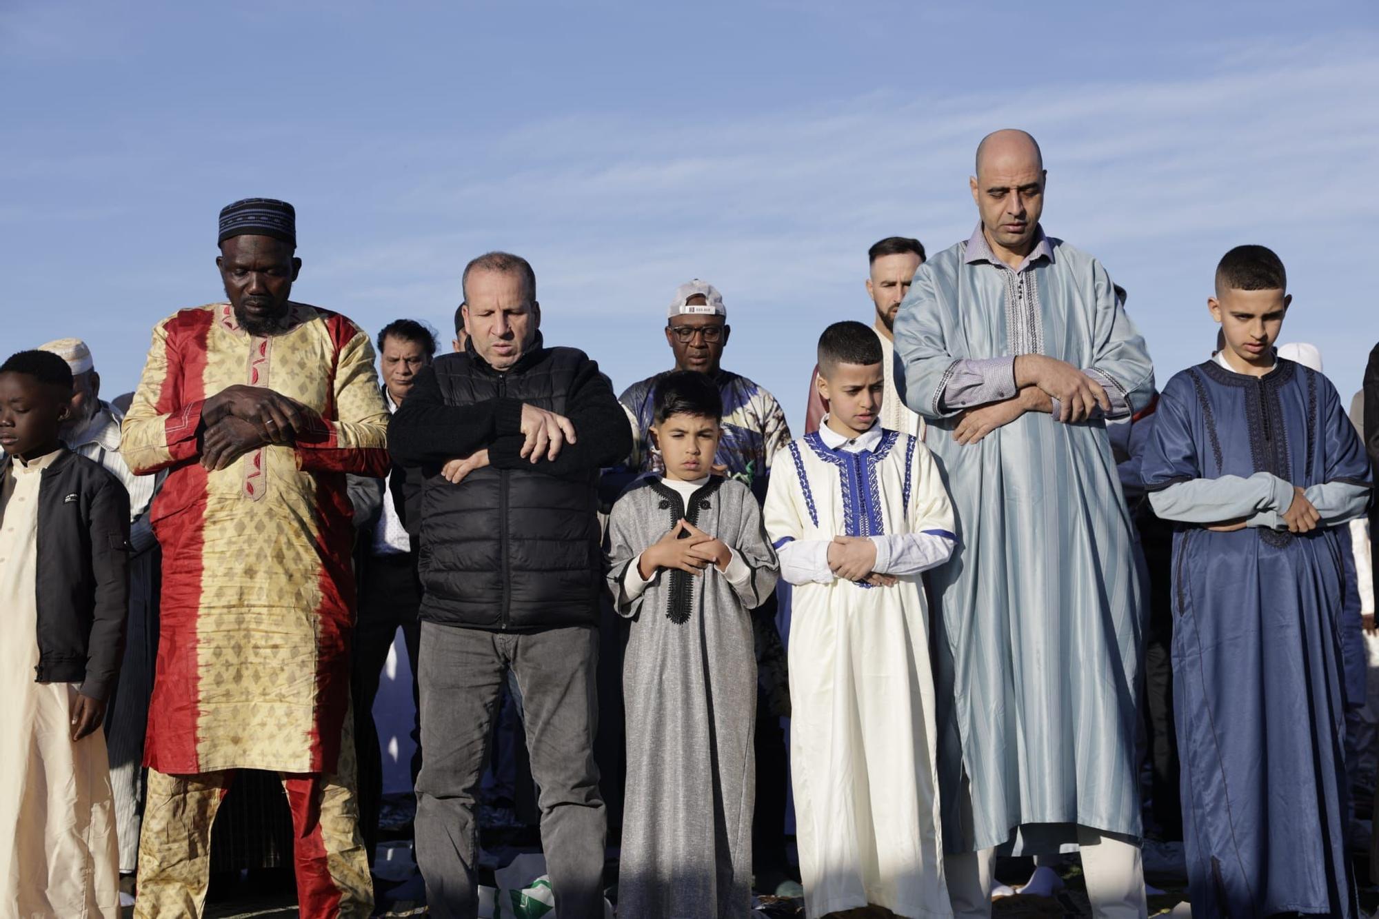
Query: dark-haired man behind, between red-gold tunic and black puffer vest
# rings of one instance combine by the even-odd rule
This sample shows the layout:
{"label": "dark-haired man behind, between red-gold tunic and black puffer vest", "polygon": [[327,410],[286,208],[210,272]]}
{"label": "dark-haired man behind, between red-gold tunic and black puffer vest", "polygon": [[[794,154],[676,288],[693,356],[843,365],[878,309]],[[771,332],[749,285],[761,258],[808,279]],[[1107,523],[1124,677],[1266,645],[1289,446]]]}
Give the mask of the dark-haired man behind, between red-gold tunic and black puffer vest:
{"label": "dark-haired man behind, between red-gold tunic and black puffer vest", "polygon": [[[383,400],[396,413],[429,367],[436,353],[436,337],[415,319],[396,319],[378,333],[378,363],[383,373]],[[359,753],[359,824],[372,865],[378,847],[378,814],[383,798],[383,760],[374,724],[378,680],[403,629],[407,661],[412,672],[412,698],[418,697],[416,653],[421,624],[422,585],[416,577],[416,549],[403,526],[403,500],[408,471],[394,465],[386,479],[350,476],[354,526],[360,530],[354,571],[359,580],[359,617],[354,621],[350,664],[350,701],[354,708],[354,749]],[[412,740],[416,731],[412,731]],[[412,780],[421,762],[421,747],[412,756]]]}

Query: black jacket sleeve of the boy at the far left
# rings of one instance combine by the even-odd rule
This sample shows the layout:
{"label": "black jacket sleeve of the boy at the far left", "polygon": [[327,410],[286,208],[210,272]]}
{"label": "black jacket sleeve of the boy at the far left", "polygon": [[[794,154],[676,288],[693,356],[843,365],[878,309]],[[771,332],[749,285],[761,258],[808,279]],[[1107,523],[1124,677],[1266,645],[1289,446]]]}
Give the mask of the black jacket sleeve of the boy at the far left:
{"label": "black jacket sleeve of the boy at the far left", "polygon": [[130,613],[130,495],[113,476],[91,498],[91,570],[95,603],[87,639],[81,694],[108,700],[124,658],[124,620]]}

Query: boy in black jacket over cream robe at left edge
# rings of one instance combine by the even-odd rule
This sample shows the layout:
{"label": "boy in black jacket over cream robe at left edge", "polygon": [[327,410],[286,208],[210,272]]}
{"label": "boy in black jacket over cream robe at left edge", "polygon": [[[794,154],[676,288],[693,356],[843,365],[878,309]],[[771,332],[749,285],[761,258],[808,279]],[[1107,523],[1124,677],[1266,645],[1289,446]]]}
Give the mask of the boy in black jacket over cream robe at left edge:
{"label": "boy in black jacket over cream robe at left edge", "polygon": [[0,912],[120,915],[105,734],[128,596],[130,498],[58,439],[72,370],[0,366]]}

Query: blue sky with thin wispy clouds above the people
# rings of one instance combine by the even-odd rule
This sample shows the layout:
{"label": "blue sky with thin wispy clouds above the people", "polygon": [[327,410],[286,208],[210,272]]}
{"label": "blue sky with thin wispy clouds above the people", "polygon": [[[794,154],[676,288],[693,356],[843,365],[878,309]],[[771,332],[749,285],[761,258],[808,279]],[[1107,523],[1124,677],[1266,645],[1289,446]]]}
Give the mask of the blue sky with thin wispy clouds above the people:
{"label": "blue sky with thin wispy clouds above the people", "polygon": [[[1376,320],[1373,3],[0,6],[3,350],[90,341],[108,395],[221,294],[221,206],[298,208],[295,297],[444,333],[465,262],[528,257],[547,341],[619,391],[717,284],[725,366],[803,419],[866,248],[975,225],[974,148],[1044,146],[1044,225],[1129,291],[1160,381],[1211,349],[1216,259],[1276,248],[1349,399]],[[1368,230],[1365,228],[1369,228]]]}

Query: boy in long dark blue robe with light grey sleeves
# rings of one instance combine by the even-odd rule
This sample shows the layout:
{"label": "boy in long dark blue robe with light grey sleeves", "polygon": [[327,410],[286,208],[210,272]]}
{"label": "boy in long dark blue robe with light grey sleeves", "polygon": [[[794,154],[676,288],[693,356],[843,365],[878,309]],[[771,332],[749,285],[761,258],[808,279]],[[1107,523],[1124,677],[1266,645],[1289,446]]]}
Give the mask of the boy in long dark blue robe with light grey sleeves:
{"label": "boy in long dark blue robe with light grey sleeves", "polygon": [[1197,916],[1357,915],[1346,853],[1336,528],[1365,451],[1320,373],[1278,357],[1287,273],[1216,268],[1225,348],[1164,388],[1142,473],[1174,535],[1174,716]]}

